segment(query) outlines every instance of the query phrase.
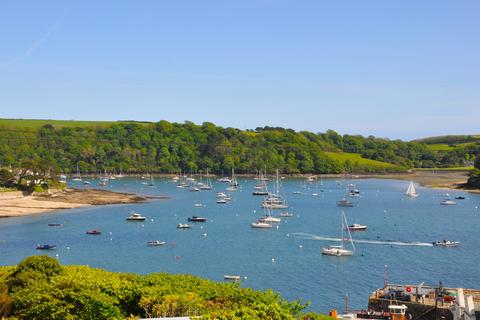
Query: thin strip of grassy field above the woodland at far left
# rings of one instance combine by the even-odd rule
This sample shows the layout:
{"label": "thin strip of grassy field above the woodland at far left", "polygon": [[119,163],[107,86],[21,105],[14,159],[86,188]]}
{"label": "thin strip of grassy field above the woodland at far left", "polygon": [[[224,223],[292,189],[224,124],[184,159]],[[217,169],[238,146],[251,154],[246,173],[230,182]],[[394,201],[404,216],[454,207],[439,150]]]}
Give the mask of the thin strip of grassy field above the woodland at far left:
{"label": "thin strip of grassy field above the woodland at far left", "polygon": [[114,123],[138,123],[134,121],[76,121],[76,120],[44,120],[44,119],[0,119],[0,127],[38,129],[46,124],[56,128],[62,127],[107,127]]}

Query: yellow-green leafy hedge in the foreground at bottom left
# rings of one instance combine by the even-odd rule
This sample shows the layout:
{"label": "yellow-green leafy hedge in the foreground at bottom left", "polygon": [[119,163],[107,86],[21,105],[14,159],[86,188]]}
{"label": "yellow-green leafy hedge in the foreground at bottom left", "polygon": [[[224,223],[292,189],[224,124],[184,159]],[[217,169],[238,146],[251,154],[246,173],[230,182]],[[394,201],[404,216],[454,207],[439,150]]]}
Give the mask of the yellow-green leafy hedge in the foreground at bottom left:
{"label": "yellow-green leafy hedge in the foreground at bottom left", "polygon": [[48,256],[0,268],[0,317],[6,319],[326,319],[302,314],[299,301],[273,291],[216,283],[191,275],[141,276],[61,266]]}

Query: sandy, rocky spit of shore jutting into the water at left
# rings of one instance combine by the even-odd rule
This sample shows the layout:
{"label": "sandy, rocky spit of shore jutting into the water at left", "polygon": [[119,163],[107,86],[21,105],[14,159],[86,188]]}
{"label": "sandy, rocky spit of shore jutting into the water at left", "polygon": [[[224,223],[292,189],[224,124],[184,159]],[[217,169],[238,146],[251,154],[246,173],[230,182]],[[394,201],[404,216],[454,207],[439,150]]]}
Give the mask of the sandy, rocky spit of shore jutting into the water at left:
{"label": "sandy, rocky spit of shore jutting into the water at left", "polygon": [[168,198],[140,196],[108,190],[73,188],[40,195],[23,195],[21,192],[9,193],[0,197],[0,218],[21,217],[89,206],[142,203],[151,199]]}

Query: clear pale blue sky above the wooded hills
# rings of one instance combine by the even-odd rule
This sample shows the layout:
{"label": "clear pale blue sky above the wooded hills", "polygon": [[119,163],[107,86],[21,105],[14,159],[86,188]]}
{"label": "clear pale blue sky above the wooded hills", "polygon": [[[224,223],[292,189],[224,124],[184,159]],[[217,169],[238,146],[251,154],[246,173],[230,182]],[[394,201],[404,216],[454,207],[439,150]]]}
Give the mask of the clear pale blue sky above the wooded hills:
{"label": "clear pale blue sky above the wooded hills", "polygon": [[480,133],[479,1],[0,1],[0,117]]}

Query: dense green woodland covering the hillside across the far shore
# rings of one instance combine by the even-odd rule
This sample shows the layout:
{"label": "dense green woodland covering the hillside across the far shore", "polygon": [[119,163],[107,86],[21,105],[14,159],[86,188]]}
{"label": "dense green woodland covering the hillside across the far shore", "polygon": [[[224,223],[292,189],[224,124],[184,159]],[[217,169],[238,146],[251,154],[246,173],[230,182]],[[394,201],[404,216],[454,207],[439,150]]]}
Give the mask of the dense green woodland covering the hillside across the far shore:
{"label": "dense green woodland covering the hillside across the far shore", "polygon": [[[373,136],[296,132],[278,127],[222,128],[212,123],[133,123],[40,128],[0,127],[0,167],[74,173],[256,173],[394,172],[413,167],[453,167],[473,162],[480,143],[432,150],[426,143]],[[325,152],[348,152],[386,162],[381,169],[341,162]],[[391,165],[390,165],[391,164]],[[39,170],[36,170],[39,171]]]}

